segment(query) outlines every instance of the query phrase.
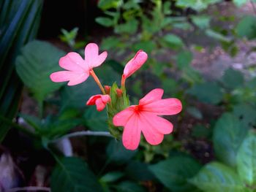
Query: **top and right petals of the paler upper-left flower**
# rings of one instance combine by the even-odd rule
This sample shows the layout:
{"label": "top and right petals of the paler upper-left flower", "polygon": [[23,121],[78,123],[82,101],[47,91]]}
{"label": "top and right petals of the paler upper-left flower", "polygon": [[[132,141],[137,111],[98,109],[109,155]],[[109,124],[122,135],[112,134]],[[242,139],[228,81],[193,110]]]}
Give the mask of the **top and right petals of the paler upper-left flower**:
{"label": "top and right petals of the paler upper-left flower", "polygon": [[89,43],[85,48],[85,61],[90,69],[100,66],[107,58],[108,53],[105,51],[99,55],[99,47],[95,43]]}

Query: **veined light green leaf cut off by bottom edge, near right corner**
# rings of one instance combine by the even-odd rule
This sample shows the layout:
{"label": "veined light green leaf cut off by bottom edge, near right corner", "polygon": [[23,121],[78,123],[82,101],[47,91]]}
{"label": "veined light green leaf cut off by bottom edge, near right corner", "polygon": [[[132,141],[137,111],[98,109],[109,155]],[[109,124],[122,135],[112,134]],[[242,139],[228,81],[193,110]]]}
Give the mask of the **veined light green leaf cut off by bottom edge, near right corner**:
{"label": "veined light green leaf cut off by bottom edge, near right corner", "polygon": [[244,192],[246,190],[233,169],[217,162],[203,166],[203,169],[189,182],[205,192]]}

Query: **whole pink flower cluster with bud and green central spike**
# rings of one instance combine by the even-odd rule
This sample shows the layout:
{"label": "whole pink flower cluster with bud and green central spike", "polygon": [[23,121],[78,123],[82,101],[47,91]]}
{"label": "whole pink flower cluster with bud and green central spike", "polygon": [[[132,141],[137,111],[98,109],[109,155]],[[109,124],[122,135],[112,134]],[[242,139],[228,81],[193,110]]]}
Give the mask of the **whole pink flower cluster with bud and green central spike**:
{"label": "whole pink flower cluster with bud and green central spike", "polygon": [[91,96],[86,104],[96,105],[98,111],[104,110],[107,106],[110,133],[118,137],[121,131],[123,145],[128,150],[138,148],[141,132],[149,144],[159,145],[164,135],[173,131],[173,124],[159,115],[178,114],[182,109],[181,101],[175,98],[162,99],[164,91],[156,88],[140,99],[138,105],[129,106],[125,81],[143,66],[148,55],[143,50],[139,50],[127,63],[121,77],[121,88],[116,84],[111,87],[105,85],[103,88],[93,68],[100,66],[107,55],[106,51],[99,54],[99,47],[89,43],[85,48],[85,59],[78,53],[68,53],[59,60],[59,66],[66,70],[50,74],[50,79],[53,82],[68,81],[67,85],[78,85],[91,75],[99,85],[102,94]]}

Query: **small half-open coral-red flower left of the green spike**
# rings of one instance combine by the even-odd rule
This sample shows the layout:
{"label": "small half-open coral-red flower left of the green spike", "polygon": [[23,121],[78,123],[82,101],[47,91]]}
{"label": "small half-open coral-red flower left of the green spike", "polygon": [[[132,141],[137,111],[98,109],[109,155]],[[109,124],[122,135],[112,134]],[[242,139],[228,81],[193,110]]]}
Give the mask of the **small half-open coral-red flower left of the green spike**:
{"label": "small half-open coral-red flower left of the green spike", "polygon": [[91,96],[90,99],[87,101],[87,105],[94,105],[96,104],[96,108],[98,111],[104,110],[107,103],[111,101],[109,95],[95,95]]}

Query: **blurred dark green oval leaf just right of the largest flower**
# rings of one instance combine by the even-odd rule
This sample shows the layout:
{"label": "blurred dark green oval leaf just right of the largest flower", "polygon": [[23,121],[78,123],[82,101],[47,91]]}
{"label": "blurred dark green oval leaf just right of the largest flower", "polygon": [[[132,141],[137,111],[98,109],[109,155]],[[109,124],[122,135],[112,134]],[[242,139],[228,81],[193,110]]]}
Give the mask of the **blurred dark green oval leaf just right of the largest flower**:
{"label": "blurred dark green oval leaf just right of the largest flower", "polygon": [[209,104],[218,104],[220,101],[222,101],[223,97],[221,88],[214,82],[196,84],[190,88],[187,93],[195,96],[200,101]]}

